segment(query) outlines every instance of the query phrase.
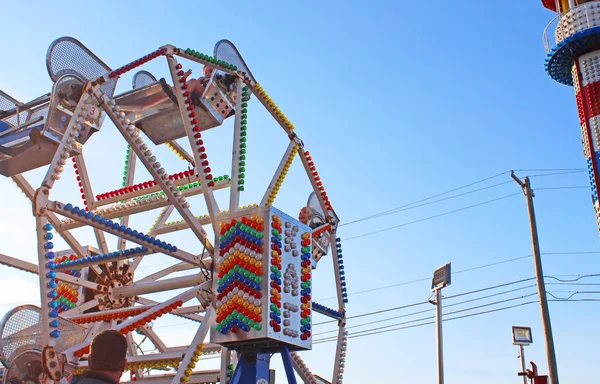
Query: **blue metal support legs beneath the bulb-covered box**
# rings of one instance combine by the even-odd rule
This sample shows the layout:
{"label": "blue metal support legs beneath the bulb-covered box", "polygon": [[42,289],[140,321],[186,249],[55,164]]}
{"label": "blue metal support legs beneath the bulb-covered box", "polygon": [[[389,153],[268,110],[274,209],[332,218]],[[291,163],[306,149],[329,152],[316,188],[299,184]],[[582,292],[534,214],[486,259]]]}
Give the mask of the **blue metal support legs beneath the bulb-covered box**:
{"label": "blue metal support legs beneath the bulb-covered box", "polygon": [[[292,358],[287,345],[281,347],[281,358],[289,384],[297,384]],[[244,352],[235,367],[231,384],[269,383],[270,353]],[[264,380],[264,381],[260,381]]]}

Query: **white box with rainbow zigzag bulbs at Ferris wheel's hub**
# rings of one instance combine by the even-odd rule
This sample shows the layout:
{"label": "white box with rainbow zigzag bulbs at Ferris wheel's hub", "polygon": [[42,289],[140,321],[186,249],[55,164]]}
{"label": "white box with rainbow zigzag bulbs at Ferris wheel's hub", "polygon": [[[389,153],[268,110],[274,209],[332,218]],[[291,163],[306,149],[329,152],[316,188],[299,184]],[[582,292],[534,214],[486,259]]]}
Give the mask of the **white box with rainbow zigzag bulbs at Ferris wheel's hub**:
{"label": "white box with rainbow zigzag bulbs at Ferris wheel's hub", "polygon": [[211,342],[311,349],[311,228],[272,207],[221,218]]}

